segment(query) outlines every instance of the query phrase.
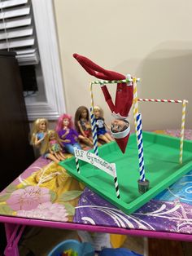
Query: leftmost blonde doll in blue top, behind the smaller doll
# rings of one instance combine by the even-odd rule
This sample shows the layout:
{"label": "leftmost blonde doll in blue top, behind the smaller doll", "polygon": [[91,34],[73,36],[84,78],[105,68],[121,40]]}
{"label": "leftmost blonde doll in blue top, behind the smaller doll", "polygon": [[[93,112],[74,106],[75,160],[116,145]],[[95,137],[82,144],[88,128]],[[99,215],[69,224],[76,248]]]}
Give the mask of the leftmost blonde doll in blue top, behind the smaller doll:
{"label": "leftmost blonde doll in blue top, behind the smaller doll", "polygon": [[48,121],[46,118],[37,118],[36,121],[33,122],[32,128],[32,138],[31,143],[36,148],[41,146],[41,142],[45,138],[48,131]]}

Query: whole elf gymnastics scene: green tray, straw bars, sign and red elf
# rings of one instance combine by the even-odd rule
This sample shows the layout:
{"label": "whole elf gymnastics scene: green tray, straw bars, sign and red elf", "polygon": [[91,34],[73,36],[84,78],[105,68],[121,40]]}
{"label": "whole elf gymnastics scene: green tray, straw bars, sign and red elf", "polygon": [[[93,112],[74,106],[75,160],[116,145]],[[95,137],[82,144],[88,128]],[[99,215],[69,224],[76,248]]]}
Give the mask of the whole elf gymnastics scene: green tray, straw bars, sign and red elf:
{"label": "whole elf gymnastics scene: green tray, straw bars, sign and red elf", "polygon": [[[185,99],[138,99],[139,78],[131,75],[124,76],[101,68],[82,55],[74,54],[73,57],[89,75],[101,79],[90,82],[88,88],[91,95],[90,123],[94,150],[84,151],[75,148],[75,157],[62,161],[59,165],[120,210],[131,214],[190,171],[192,142],[185,141],[185,150],[183,150],[185,107],[188,101]],[[115,102],[111,99],[107,84],[111,86],[117,84]],[[95,112],[94,108],[94,85],[101,87],[103,99],[114,117],[110,132],[116,142],[110,141],[102,147],[98,147],[100,134],[97,120],[101,115],[98,110]],[[142,114],[138,112],[139,101],[181,103],[181,138],[142,132]],[[132,106],[135,134],[130,135],[128,117]],[[100,121],[99,123],[101,125]],[[105,131],[103,133],[105,135]]]}

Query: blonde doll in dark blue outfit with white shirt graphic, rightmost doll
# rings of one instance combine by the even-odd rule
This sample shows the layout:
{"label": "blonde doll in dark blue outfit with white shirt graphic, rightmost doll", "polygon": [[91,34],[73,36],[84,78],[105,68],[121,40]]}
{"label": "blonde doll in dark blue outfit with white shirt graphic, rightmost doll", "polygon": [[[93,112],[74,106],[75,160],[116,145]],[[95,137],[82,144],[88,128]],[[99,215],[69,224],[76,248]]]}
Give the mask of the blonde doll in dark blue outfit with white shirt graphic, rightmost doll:
{"label": "blonde doll in dark blue outfit with white shirt graphic, rightmost doll", "polygon": [[102,139],[105,143],[110,143],[113,141],[111,135],[107,133],[106,130],[106,127],[108,130],[110,130],[110,128],[108,128],[104,121],[103,109],[98,106],[94,106],[94,117],[96,121],[98,139]]}

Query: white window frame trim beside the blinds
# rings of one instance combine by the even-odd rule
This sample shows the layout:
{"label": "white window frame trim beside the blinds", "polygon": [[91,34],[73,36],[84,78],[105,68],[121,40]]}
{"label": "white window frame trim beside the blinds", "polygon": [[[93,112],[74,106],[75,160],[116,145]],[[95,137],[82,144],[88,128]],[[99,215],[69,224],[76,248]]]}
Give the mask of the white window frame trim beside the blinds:
{"label": "white window frame trim beside the blinds", "polygon": [[28,120],[56,120],[66,112],[53,1],[32,0],[46,101],[25,101]]}

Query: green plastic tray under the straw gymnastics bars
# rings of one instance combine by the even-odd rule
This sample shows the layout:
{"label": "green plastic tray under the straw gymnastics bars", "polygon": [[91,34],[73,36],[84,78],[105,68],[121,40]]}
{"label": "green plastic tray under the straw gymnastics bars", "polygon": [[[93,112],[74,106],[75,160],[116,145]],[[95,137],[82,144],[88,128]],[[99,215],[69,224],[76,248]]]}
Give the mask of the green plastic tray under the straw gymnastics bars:
{"label": "green plastic tray under the straw gymnastics bars", "polygon": [[191,170],[192,141],[184,141],[182,165],[179,164],[179,148],[180,139],[178,138],[143,132],[146,179],[150,181],[150,189],[146,193],[140,194],[137,188],[139,167],[136,136],[130,135],[124,154],[120,152],[116,142],[99,147],[99,157],[110,163],[116,163],[120,199],[116,197],[113,178],[103,170],[99,170],[85,161],[79,161],[81,174],[78,174],[75,157],[60,162],[60,166],[63,166],[69,174],[85,183],[98,195],[103,196],[111,204],[123,210],[124,213],[132,214]]}

